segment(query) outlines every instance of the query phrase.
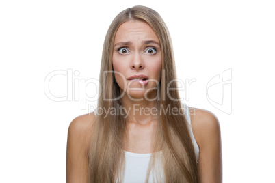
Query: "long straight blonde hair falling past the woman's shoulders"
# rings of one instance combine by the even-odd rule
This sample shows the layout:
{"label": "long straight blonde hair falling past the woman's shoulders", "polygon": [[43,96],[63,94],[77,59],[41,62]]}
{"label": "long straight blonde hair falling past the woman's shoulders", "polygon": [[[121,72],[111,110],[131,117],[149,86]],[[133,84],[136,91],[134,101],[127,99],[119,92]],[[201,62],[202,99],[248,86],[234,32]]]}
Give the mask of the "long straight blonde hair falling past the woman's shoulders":
{"label": "long straight blonde hair falling past the woman's shoulders", "polygon": [[[116,83],[114,74],[106,74],[112,71],[112,52],[114,37],[118,27],[129,20],[141,20],[155,31],[161,45],[162,70],[159,83],[160,96],[157,104],[159,106],[159,121],[156,129],[154,150],[161,149],[161,163],[164,171],[165,182],[199,182],[198,167],[192,139],[189,136],[187,120],[183,113],[172,115],[171,113],[161,114],[160,106],[163,109],[177,108],[182,110],[177,90],[167,91],[166,83],[176,79],[176,69],[172,42],[170,34],[161,16],[155,10],[144,6],[134,6],[120,12],[110,25],[103,46],[101,72],[99,83],[98,108],[118,109],[121,107],[120,100],[107,100],[118,98],[120,88]],[[165,82],[164,82],[165,81]],[[107,86],[107,87],[106,87]],[[170,87],[177,88],[176,82]],[[168,97],[170,92],[170,97]],[[172,100],[178,99],[176,101]],[[104,110],[96,115],[92,130],[92,139],[89,151],[89,182],[121,182],[123,169],[125,168],[125,152],[122,150],[125,138],[127,117],[125,114],[110,115]],[[150,168],[155,165],[155,158],[152,156]],[[150,169],[147,173],[147,181]]]}

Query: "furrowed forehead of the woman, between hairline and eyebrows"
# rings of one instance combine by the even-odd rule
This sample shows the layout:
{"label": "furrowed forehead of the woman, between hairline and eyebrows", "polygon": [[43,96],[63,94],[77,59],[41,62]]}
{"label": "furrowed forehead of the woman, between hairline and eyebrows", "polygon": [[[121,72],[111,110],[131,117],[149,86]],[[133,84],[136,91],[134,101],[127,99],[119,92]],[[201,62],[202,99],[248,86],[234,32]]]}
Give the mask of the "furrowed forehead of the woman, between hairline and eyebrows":
{"label": "furrowed forehead of the woman, between hairline and eyebrows", "polygon": [[115,43],[132,40],[154,40],[155,42],[159,42],[159,38],[152,27],[140,20],[129,20],[118,27]]}

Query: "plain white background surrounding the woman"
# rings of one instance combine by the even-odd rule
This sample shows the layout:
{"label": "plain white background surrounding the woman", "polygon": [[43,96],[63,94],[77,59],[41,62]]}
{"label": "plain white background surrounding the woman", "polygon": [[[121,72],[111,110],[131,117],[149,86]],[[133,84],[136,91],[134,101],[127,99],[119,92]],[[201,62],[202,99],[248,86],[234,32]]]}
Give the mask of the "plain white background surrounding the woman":
{"label": "plain white background surrounding the woman", "polygon": [[[275,6],[239,0],[1,1],[0,182],[66,181],[68,126],[88,109],[81,110],[74,98],[50,100],[44,79],[68,69],[79,71],[75,81],[99,79],[107,28],[133,5],[161,14],[178,78],[196,79],[186,103],[220,120],[224,182],[275,182]],[[224,87],[223,92],[222,83],[209,91],[215,100],[232,96],[223,104],[232,109],[229,114],[213,107],[206,95],[207,83],[228,69],[232,79],[226,86],[232,91]],[[66,82],[66,76],[53,77],[52,94],[65,96]],[[82,90],[96,94],[92,84]]]}

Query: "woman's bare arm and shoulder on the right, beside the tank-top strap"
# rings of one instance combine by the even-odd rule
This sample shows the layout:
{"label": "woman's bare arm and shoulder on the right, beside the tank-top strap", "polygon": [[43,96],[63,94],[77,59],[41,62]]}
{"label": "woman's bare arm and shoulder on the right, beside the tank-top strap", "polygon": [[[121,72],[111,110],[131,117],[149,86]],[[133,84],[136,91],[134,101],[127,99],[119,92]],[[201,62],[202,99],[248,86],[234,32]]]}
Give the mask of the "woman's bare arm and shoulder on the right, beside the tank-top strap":
{"label": "woman's bare arm and shoulder on the right, beside the tank-top strap", "polygon": [[222,143],[217,117],[209,111],[196,109],[192,116],[192,130],[200,148],[200,182],[222,182]]}

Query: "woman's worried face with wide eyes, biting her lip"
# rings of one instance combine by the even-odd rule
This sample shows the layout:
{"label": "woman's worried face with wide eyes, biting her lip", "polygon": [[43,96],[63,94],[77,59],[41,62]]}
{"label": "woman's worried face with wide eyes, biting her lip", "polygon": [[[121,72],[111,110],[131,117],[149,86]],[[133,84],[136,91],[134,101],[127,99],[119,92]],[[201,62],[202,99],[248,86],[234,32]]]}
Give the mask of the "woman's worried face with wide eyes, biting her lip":
{"label": "woman's worried face with wide eyes, biting her lip", "polygon": [[118,27],[112,64],[120,94],[131,98],[155,98],[161,79],[159,39],[145,22],[130,20]]}

